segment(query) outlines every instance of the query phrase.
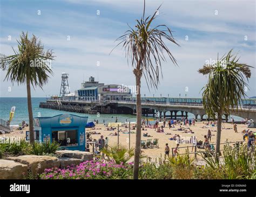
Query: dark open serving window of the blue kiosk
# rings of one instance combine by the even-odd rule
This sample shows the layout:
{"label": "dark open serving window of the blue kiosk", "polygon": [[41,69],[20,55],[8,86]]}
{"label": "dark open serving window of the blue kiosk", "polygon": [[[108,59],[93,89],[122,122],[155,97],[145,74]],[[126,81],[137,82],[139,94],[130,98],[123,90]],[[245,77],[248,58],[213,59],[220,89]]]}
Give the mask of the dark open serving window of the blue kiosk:
{"label": "dark open serving window of the blue kiosk", "polygon": [[52,141],[57,141],[60,146],[77,146],[77,130],[52,131]]}

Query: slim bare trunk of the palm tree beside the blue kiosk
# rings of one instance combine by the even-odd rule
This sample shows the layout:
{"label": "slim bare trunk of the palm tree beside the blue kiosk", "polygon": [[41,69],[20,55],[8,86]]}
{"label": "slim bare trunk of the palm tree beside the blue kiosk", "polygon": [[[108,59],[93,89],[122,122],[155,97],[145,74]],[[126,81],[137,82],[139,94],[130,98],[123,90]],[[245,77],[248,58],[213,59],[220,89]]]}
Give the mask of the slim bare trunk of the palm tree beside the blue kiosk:
{"label": "slim bare trunk of the palm tree beside the blue kiosk", "polygon": [[26,93],[28,96],[28,111],[29,111],[29,139],[30,144],[35,142],[34,138],[34,128],[33,128],[33,111],[32,111],[32,102],[31,102],[31,90],[30,90],[30,80],[26,78]]}

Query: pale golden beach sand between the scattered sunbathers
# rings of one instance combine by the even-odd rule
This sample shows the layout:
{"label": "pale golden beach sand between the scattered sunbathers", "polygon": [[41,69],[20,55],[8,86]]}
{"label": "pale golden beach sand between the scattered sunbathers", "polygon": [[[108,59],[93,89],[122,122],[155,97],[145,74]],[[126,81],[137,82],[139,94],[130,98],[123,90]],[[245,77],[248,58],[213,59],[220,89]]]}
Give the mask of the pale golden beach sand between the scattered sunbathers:
{"label": "pale golden beach sand between the scattered sunbathers", "polygon": [[[206,123],[206,122],[205,122]],[[128,124],[127,124],[128,125]],[[163,125],[163,123],[160,123],[160,126]],[[131,127],[133,124],[131,124]],[[217,135],[217,126],[206,126],[207,128],[202,128],[203,126],[206,126],[204,122],[196,122],[195,126],[191,126],[190,128],[194,133],[183,133],[183,131],[176,131],[179,126],[175,126],[175,128],[164,128],[164,133],[157,133],[154,131],[153,128],[146,128],[147,131],[142,131],[142,140],[147,140],[147,139],[159,139],[159,148],[147,148],[143,149],[144,154],[151,157],[151,158],[158,158],[160,155],[162,157],[164,156],[164,150],[165,150],[165,144],[168,143],[170,147],[170,155],[172,153],[172,149],[176,147],[176,141],[174,140],[169,140],[173,136],[173,134],[179,134],[181,138],[186,139],[190,138],[192,135],[196,135],[197,140],[203,140],[204,141],[204,135],[207,135],[208,129],[212,131],[212,138],[211,138],[211,143],[215,144],[216,141],[216,135]],[[223,123],[223,127],[225,127],[222,132],[221,132],[221,142],[235,142],[235,141],[242,141],[242,134],[241,131],[246,129],[245,125],[239,124],[238,125],[238,133],[235,133],[233,130],[233,127],[231,123]],[[185,127],[186,128],[186,127]],[[187,126],[188,128],[188,126]],[[227,129],[231,128],[231,129]],[[28,127],[23,128],[23,133],[21,131],[13,131],[9,134],[4,134],[1,135],[3,136],[9,136],[9,137],[20,137],[20,138],[25,138],[25,131],[28,131]],[[120,126],[119,130],[124,131],[125,127]],[[95,129],[92,128],[86,128],[86,133],[87,132],[99,132],[100,134],[92,134],[92,138],[98,140],[100,138],[100,135],[104,135],[104,138],[107,137],[109,138],[109,145],[114,144],[117,142],[118,138],[117,136],[111,136],[110,133],[117,132],[117,129],[114,131],[107,131],[107,127],[104,126],[104,124],[96,124]],[[136,130],[131,130],[131,132],[136,132]],[[152,137],[143,137],[143,133],[148,133]],[[166,133],[171,133],[170,135],[167,135]],[[127,147],[129,146],[129,134],[127,133],[122,133],[119,132],[119,142],[120,144],[126,145]],[[131,147],[135,146],[135,138],[136,134],[131,133]],[[181,148],[181,147],[187,147],[191,146],[192,144],[180,144],[179,148],[179,153],[185,153],[186,148]],[[191,147],[189,148],[189,151],[191,151]],[[221,145],[221,149],[223,149],[223,145]]]}

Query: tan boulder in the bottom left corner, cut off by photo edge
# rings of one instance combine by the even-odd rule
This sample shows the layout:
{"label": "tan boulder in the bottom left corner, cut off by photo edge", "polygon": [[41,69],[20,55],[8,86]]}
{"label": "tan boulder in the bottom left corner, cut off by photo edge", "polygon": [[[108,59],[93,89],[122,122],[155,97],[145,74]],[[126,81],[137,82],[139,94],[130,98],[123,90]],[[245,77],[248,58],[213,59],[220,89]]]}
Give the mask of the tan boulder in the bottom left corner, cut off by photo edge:
{"label": "tan boulder in the bottom left corner, cut off by photo edge", "polygon": [[0,159],[0,179],[23,179],[28,166],[12,160]]}

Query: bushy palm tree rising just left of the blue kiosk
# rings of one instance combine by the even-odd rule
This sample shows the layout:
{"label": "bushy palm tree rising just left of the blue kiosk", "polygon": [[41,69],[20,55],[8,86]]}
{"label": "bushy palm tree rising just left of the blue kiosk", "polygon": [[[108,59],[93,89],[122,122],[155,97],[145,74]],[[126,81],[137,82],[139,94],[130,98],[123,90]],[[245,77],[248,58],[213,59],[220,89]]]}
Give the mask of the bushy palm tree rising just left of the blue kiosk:
{"label": "bushy palm tree rising just left of the blue kiosk", "polygon": [[[26,84],[26,91],[28,96],[28,111],[29,111],[29,132],[30,142],[35,141],[33,135],[33,112],[31,103],[30,84],[35,88],[36,86],[43,87],[48,82],[49,75],[52,74],[51,65],[53,60],[53,52],[50,50],[44,51],[44,46],[33,35],[31,39],[28,38],[28,32],[22,32],[18,42],[18,51],[14,50],[14,55],[1,55],[0,66],[6,70],[5,79],[10,80],[12,85],[17,82],[18,85]],[[5,80],[4,79],[4,80]]]}

